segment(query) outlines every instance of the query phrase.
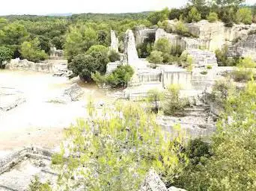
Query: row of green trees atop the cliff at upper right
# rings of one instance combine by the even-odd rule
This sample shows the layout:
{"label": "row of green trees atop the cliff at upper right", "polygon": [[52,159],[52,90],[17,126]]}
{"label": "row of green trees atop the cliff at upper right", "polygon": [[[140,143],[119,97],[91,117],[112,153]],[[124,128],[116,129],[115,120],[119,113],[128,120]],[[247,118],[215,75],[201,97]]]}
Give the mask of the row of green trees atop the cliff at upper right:
{"label": "row of green trees atop the cliff at upper right", "polygon": [[153,25],[159,25],[166,19],[182,19],[185,22],[198,22],[201,19],[207,19],[210,22],[220,20],[225,22],[227,27],[234,23],[243,22],[252,24],[256,22],[256,5],[243,5],[243,0],[190,0],[185,7],[150,13],[148,19]]}

